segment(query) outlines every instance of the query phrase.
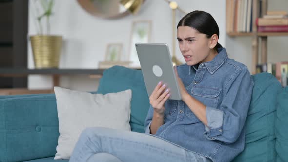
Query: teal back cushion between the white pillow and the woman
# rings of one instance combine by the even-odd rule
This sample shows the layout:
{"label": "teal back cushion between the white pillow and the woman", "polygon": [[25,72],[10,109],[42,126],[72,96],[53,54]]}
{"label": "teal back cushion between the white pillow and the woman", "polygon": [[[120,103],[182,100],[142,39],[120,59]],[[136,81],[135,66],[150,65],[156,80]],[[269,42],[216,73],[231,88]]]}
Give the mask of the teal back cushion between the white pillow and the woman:
{"label": "teal back cushion between the white pillow and the woman", "polygon": [[144,121],[149,110],[149,97],[142,72],[122,66],[114,66],[104,71],[97,92],[106,94],[132,90],[131,130],[144,132]]}

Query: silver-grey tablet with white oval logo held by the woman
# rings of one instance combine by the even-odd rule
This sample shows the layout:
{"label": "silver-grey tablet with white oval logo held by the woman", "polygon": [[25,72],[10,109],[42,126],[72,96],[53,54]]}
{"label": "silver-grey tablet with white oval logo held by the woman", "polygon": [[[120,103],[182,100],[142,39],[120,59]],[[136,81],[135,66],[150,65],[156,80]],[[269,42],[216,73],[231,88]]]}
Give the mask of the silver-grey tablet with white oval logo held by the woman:
{"label": "silver-grey tablet with white oval logo held by the woman", "polygon": [[181,100],[178,81],[166,43],[136,43],[136,51],[146,85],[151,96],[159,81],[170,89],[170,100]]}

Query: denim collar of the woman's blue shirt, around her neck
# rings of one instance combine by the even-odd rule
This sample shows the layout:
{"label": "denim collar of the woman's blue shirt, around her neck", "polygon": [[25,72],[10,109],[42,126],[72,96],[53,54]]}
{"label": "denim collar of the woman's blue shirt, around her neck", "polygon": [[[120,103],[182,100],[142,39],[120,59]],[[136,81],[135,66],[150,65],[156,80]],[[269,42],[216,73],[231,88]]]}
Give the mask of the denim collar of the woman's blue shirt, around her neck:
{"label": "denim collar of the woman's blue shirt, around her neck", "polygon": [[[201,63],[198,68],[202,68],[201,66],[206,66],[209,73],[213,74],[217,69],[219,69],[222,64],[228,58],[227,52],[225,48],[218,48],[218,54],[213,58],[212,61]],[[192,67],[197,71],[197,65],[190,66],[189,74],[191,73]]]}

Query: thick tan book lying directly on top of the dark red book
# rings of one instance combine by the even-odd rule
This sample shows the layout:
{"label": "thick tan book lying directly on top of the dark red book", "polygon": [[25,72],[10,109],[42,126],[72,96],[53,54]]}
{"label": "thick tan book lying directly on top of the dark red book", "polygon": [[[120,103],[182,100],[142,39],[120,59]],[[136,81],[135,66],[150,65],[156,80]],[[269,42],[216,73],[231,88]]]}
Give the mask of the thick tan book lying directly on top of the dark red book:
{"label": "thick tan book lying directly on top of the dark red book", "polygon": [[285,26],[288,25],[288,18],[277,18],[277,19],[268,19],[268,18],[257,18],[257,26]]}

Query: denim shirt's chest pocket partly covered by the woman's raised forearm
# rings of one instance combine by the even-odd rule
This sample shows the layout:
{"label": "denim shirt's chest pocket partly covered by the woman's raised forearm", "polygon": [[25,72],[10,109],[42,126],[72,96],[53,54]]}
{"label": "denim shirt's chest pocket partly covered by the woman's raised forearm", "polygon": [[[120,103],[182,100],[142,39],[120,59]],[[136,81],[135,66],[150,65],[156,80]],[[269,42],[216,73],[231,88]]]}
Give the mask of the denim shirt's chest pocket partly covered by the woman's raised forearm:
{"label": "denim shirt's chest pocket partly covered by the woman's raised forearm", "polygon": [[[194,97],[196,100],[200,101],[206,106],[216,108],[218,104],[219,95],[221,93],[220,88],[214,87],[192,87],[191,89],[191,96]],[[185,113],[188,117],[197,118],[196,115],[187,107],[185,109]]]}

